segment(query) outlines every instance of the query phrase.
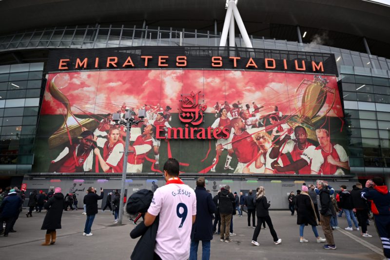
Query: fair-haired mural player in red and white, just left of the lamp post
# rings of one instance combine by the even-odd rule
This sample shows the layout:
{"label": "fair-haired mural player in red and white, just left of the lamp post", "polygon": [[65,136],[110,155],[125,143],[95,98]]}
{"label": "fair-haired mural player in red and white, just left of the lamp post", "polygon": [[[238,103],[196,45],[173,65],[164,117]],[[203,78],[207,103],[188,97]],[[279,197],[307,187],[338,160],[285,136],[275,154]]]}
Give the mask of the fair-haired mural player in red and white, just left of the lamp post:
{"label": "fair-haired mural player in red and white, just left of the lamp post", "polygon": [[120,140],[119,129],[112,127],[108,133],[108,140],[96,138],[99,147],[103,147],[103,156],[99,148],[95,148],[94,153],[98,156],[100,167],[104,172],[123,171],[123,142]]}

